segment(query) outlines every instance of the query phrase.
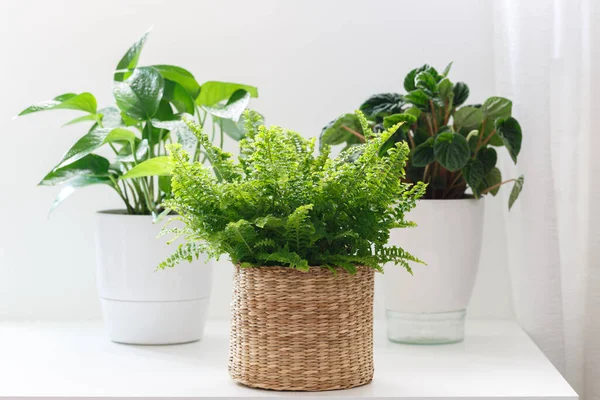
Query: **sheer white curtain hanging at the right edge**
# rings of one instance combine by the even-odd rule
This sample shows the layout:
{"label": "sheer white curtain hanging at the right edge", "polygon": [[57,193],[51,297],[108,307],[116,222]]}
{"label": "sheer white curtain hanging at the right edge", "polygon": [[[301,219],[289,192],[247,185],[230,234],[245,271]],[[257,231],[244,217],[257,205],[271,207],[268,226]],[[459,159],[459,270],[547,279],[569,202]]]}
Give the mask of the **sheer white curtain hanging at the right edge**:
{"label": "sheer white curtain hanging at the right edge", "polygon": [[[498,95],[523,129],[506,214],[516,317],[585,400],[600,399],[600,7],[497,0]],[[508,191],[504,191],[507,196]]]}

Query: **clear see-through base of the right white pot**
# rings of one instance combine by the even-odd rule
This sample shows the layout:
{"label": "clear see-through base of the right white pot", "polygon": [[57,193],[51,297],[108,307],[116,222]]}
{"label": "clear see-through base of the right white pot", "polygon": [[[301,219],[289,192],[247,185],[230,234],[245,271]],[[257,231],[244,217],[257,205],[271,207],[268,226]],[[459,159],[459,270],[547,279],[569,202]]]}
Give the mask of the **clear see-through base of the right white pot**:
{"label": "clear see-through base of the right white pot", "polygon": [[465,338],[467,310],[442,313],[386,311],[387,335],[392,342],[406,344],[448,344]]}

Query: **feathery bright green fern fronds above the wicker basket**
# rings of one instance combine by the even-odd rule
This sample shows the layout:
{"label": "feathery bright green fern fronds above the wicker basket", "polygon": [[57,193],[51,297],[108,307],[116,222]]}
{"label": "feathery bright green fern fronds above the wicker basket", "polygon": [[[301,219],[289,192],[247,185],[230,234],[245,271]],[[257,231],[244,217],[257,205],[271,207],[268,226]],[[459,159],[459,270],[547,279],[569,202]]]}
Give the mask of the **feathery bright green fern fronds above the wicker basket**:
{"label": "feathery bright green fern fronds above the wicker basket", "polygon": [[[211,160],[190,159],[180,144],[169,145],[173,197],[164,206],[184,223],[180,247],[161,267],[196,257],[229,255],[242,267],[283,265],[305,271],[311,265],[357,265],[377,270],[386,262],[417,258],[386,247],[390,230],[414,224],[405,214],[426,189],[401,182],[409,148],[398,142],[380,150],[399,128],[374,135],[364,116],[356,119],[365,143],[329,158],[329,146],[314,155],[315,141],[279,127],[258,125],[246,112],[248,134],[237,160],[211,144],[202,128],[186,120]],[[353,160],[348,162],[349,160]],[[187,246],[187,247],[186,247]],[[201,249],[201,250],[200,250]]]}

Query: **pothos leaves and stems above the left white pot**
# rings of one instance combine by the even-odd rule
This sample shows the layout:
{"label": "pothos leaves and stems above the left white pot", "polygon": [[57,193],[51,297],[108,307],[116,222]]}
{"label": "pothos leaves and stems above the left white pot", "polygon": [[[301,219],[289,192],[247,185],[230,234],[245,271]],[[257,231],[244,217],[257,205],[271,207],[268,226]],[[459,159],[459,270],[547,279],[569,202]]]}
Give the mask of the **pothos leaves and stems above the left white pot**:
{"label": "pothos leaves and stems above the left white pot", "polygon": [[[258,96],[257,89],[218,81],[201,85],[189,71],[174,65],[138,66],[147,36],[144,34],[134,43],[117,64],[112,84],[116,105],[98,109],[91,93],[65,93],[18,114],[76,110],[84,115],[65,125],[92,123],[39,183],[62,186],[50,211],[77,188],[104,184],[119,195],[129,214],[157,216],[163,210],[162,202],[171,197],[170,179],[148,175],[132,176],[129,180],[120,177],[140,164],[163,163],[166,145],[173,142],[186,148],[192,160],[206,161],[200,143],[181,120],[183,115],[194,118],[202,127],[210,126],[211,141],[218,136],[220,147],[225,134],[234,140],[244,136],[240,116],[250,97]],[[104,146],[113,152],[112,161],[97,154]]]}

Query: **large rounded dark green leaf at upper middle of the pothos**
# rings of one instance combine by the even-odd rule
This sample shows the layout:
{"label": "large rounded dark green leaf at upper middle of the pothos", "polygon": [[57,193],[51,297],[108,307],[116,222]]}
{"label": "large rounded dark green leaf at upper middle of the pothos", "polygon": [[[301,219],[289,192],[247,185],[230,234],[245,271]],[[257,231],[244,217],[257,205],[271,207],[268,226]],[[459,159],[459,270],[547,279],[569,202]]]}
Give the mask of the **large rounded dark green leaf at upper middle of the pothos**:
{"label": "large rounded dark green leaf at upper middle of the pothos", "polygon": [[113,84],[113,95],[121,111],[139,121],[156,114],[163,90],[164,79],[152,67],[136,68],[125,81]]}

